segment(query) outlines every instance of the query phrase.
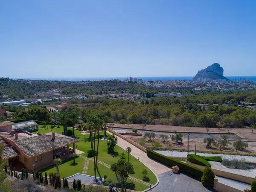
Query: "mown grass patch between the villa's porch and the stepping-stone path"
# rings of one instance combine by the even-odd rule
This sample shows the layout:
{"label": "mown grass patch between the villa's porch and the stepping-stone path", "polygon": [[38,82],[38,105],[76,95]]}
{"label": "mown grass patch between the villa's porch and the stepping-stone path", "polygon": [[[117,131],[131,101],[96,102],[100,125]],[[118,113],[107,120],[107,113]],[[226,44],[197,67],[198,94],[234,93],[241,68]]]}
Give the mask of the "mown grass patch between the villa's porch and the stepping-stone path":
{"label": "mown grass patch between the villa's porch and the stepping-stone path", "polygon": [[[73,159],[69,159],[66,161],[63,161],[62,164],[59,166],[59,172],[60,176],[62,177],[69,177],[71,175],[74,175],[76,173],[82,173],[84,168],[84,159],[81,157],[76,158],[76,164],[73,164]],[[42,169],[41,172],[44,175],[44,172],[47,172],[47,175],[49,176],[49,173],[56,173],[56,167],[55,165],[47,167],[46,169]]]}

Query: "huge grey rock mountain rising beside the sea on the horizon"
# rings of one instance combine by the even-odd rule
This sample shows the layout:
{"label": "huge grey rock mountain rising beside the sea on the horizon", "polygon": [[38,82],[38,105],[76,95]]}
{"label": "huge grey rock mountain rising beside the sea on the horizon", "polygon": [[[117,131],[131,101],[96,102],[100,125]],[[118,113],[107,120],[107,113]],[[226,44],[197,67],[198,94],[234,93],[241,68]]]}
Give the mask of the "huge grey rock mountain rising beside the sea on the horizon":
{"label": "huge grey rock mountain rising beside the sea on the horizon", "polygon": [[226,77],[223,76],[223,68],[218,63],[214,63],[207,68],[198,71],[196,76],[193,80],[202,80],[202,79],[212,79],[212,80],[218,80],[218,79],[225,79],[228,80]]}

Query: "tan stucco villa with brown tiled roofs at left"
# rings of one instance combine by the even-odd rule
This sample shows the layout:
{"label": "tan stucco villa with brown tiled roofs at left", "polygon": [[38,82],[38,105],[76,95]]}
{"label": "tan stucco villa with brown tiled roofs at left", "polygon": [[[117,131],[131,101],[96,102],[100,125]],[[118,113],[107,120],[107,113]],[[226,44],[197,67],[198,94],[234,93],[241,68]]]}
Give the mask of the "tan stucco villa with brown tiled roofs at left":
{"label": "tan stucco villa with brown tiled roofs at left", "polygon": [[[32,126],[38,126],[30,122]],[[79,140],[55,132],[32,134],[24,131],[32,129],[30,123],[26,127],[27,123],[19,123],[24,124],[19,127],[13,122],[0,122],[0,145],[4,145],[0,157],[7,161],[7,166],[15,167],[16,170],[25,168],[32,172],[52,165],[55,158],[64,160],[76,153],[75,144]]]}

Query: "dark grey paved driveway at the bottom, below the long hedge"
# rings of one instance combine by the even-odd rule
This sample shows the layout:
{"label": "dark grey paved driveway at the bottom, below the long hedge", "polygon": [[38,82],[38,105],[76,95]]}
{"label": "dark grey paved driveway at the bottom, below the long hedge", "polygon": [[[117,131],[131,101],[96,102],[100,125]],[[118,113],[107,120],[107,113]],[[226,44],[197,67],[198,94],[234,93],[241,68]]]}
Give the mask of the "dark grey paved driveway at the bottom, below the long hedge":
{"label": "dark grey paved driveway at the bottom, below the long hedge", "polygon": [[[159,184],[152,189],[152,192],[210,192],[202,183],[184,174],[167,175],[169,172],[157,175]],[[215,192],[212,189],[212,192]]]}

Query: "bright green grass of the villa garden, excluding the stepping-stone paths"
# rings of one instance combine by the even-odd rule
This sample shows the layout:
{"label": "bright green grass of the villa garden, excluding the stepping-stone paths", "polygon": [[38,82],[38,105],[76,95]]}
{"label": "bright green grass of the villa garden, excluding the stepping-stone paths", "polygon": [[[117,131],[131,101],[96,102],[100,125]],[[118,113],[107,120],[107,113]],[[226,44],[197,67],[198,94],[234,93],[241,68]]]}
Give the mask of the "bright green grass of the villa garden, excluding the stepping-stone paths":
{"label": "bright green grass of the villa garden, excluding the stepping-stone paths", "polygon": [[[70,128],[70,127],[68,127],[68,129],[72,130],[72,128]],[[50,131],[55,131],[56,133],[61,134],[63,132],[63,127],[60,126],[60,128],[46,129],[46,128],[43,128],[41,125],[39,126],[38,132],[40,132],[40,133],[48,133]],[[101,137],[103,137],[104,133],[101,132],[100,134],[101,134]],[[89,134],[82,135],[81,131],[75,130],[75,137],[79,140],[79,142],[76,143],[76,148],[80,151],[84,151],[84,153],[81,155],[87,156],[87,151],[90,150]],[[96,143],[97,143],[97,141],[96,141]],[[121,154],[122,152],[125,153],[126,160],[128,160],[127,152],[125,150],[123,150],[122,148],[120,148],[118,145],[115,146],[113,153],[108,153],[107,141],[100,140],[100,142],[99,142],[99,157],[98,158],[99,158],[99,160],[101,160],[109,165],[116,163],[117,160],[119,160],[119,154]],[[134,166],[134,173],[130,174],[131,176],[143,180],[142,171],[143,171],[143,169],[146,169],[148,171],[147,177],[149,177],[149,179],[150,179],[148,181],[148,183],[151,183],[153,185],[157,182],[157,178],[155,177],[155,175],[145,165],[143,165],[143,163],[141,163],[140,161],[138,161],[136,158],[134,158],[131,155],[129,157],[129,160]],[[84,160],[81,157],[79,157],[76,159],[76,161],[78,163],[76,166],[71,165],[73,160],[61,164],[61,166],[60,166],[61,177],[68,177],[68,176],[74,175],[75,173],[82,172],[82,169],[84,166]],[[94,167],[93,161],[90,160],[87,175],[94,175],[93,167]],[[113,172],[111,172],[110,169],[108,169],[107,167],[105,167],[99,163],[98,163],[98,167],[99,167],[99,172],[102,177],[104,175],[107,175],[107,180],[111,179],[111,180],[116,181],[115,174]],[[47,173],[49,173],[49,172],[55,172],[56,171],[55,169],[56,168],[53,166],[53,167],[49,167],[48,170],[44,169],[43,171],[47,170]],[[131,181],[131,180],[129,180],[129,181]],[[131,181],[131,182],[133,182],[135,184],[135,190],[140,191],[140,190],[144,190],[144,189],[148,188],[147,186],[145,186],[141,183],[137,183],[135,181]]]}

